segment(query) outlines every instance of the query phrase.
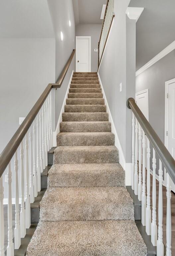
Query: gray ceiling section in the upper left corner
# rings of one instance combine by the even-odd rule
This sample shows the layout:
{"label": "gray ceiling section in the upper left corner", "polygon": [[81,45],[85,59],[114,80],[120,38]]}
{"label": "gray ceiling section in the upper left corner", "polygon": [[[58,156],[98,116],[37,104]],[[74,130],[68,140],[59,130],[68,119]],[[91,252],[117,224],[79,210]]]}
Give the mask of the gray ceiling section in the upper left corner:
{"label": "gray ceiling section in the upper left corner", "polygon": [[0,38],[54,37],[47,0],[0,0]]}

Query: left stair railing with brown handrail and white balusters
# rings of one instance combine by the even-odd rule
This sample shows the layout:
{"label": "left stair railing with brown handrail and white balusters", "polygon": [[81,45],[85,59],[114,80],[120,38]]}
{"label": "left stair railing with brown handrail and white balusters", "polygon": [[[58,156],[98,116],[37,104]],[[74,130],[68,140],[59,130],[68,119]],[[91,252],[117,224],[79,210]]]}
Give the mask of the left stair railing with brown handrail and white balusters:
{"label": "left stair railing with brown handrail and white balusters", "polygon": [[[51,90],[60,88],[67,70],[74,57],[73,50],[69,60],[62,70],[55,84],[48,84],[44,92],[35,103],[23,123],[0,155],[0,256],[5,255],[4,248],[4,206],[3,206],[3,173],[8,168],[8,246],[7,256],[14,255],[14,249],[19,249],[21,238],[30,228],[30,204],[41,191],[41,173],[47,166],[47,151],[52,148],[52,120],[51,120]],[[20,158],[18,152],[20,149]],[[14,157],[14,170],[11,168]],[[25,160],[25,161],[24,161]],[[20,164],[19,164],[20,161]],[[19,181],[20,165],[20,181]],[[12,181],[15,183],[15,229],[14,243],[12,230]],[[20,182],[20,192],[19,192]],[[19,198],[21,200],[19,202]],[[19,210],[19,204],[21,209]]]}

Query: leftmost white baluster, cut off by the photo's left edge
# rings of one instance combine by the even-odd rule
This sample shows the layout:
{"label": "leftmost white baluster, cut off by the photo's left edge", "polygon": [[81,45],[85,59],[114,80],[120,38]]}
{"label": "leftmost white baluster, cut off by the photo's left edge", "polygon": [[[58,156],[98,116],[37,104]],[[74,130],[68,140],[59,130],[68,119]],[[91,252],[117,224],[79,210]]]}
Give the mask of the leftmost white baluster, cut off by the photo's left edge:
{"label": "leftmost white baluster, cut off by the photo's left edge", "polygon": [[0,256],[4,256],[4,205],[3,205],[3,198],[4,198],[4,188],[3,188],[3,180],[2,176],[0,177]]}

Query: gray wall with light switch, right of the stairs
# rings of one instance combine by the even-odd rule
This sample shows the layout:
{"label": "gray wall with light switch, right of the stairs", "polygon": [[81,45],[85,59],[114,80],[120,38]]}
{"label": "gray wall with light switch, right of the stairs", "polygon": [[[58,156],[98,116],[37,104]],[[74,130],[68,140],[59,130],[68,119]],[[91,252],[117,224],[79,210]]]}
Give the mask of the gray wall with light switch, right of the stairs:
{"label": "gray wall with light switch, right of the stairs", "polygon": [[131,111],[127,109],[126,101],[135,95],[135,21],[128,20],[125,14],[129,2],[114,2],[114,23],[99,69],[127,163],[131,163]]}

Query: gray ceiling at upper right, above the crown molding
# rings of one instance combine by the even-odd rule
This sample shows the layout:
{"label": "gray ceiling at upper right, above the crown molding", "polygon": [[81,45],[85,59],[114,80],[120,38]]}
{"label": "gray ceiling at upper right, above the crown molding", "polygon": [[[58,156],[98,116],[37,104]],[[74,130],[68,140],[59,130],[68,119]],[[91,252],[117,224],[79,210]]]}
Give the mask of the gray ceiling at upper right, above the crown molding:
{"label": "gray ceiling at upper right, above the crown molding", "polygon": [[131,0],[144,7],[136,23],[136,70],[175,40],[175,0]]}

